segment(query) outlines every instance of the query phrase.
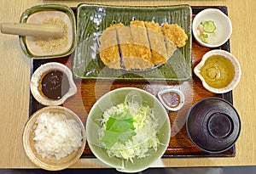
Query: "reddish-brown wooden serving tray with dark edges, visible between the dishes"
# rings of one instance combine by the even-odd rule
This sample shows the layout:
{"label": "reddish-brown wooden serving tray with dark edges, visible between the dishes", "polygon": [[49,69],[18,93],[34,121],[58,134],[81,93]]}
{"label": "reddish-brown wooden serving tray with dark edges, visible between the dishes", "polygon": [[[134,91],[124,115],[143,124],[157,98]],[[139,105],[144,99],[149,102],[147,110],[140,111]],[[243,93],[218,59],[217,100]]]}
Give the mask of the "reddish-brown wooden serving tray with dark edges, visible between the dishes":
{"label": "reddish-brown wooden serving tray with dark edges, visible between the dishes", "polygon": [[[227,7],[192,7],[193,15],[198,14],[204,8],[218,8],[227,14]],[[73,8],[74,12],[76,8]],[[204,53],[210,51],[212,48],[201,47],[195,39],[193,38],[192,43],[192,68],[195,67],[200,61]],[[218,49],[223,49],[230,52],[230,42],[226,42],[223,46]],[[38,68],[38,66],[43,65],[47,62],[60,62],[67,65],[70,69],[73,66],[73,54],[65,58],[59,59],[32,59],[32,72]],[[190,107],[197,101],[208,98],[208,97],[218,97],[224,98],[232,104],[232,92],[224,94],[216,94],[208,92],[202,85],[199,78],[193,74],[192,79],[189,81],[111,81],[111,80],[83,80],[74,79],[75,84],[78,87],[78,93],[76,93],[72,98],[68,98],[67,101],[62,104],[62,106],[72,109],[80,119],[86,122],[87,115],[90,112],[93,104],[96,100],[100,98],[105,93],[110,90],[119,87],[137,87],[141,88],[148,93],[152,93],[155,96],[160,90],[177,87],[181,89],[185,96],[185,104],[182,109],[176,112],[169,112],[169,118],[172,127],[172,138],[169,143],[166,153],[163,158],[172,157],[234,157],[236,155],[235,145],[219,154],[209,154],[203,152],[201,149],[195,147],[195,145],[190,141],[189,136],[186,132],[185,121]],[[39,104],[35,98],[30,94],[30,108],[29,115],[32,115],[38,109],[43,108],[44,105]],[[89,146],[86,144],[84,149],[84,154],[81,158],[96,158],[90,151]]]}

